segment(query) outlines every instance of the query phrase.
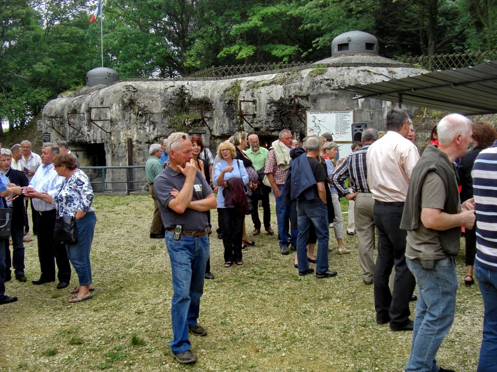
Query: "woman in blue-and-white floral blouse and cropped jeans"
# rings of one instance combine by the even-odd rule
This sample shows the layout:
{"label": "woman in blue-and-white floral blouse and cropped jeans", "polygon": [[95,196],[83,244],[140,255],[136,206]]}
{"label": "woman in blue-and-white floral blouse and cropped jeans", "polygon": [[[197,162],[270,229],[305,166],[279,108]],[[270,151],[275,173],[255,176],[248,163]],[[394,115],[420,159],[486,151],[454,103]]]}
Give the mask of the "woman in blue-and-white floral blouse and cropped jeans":
{"label": "woman in blue-and-white floral blouse and cropped jeans", "polygon": [[69,302],[80,302],[92,298],[90,248],[95,231],[96,216],[91,206],[93,190],[88,176],[76,167],[74,156],[61,153],[54,157],[54,167],[59,176],[66,177],[58,194],[52,197],[35,190],[26,190],[30,198],[38,198],[52,203],[58,216],[75,216],[78,228],[78,242],[67,244],[67,255],[80,281],[79,286],[71,290],[74,293]]}

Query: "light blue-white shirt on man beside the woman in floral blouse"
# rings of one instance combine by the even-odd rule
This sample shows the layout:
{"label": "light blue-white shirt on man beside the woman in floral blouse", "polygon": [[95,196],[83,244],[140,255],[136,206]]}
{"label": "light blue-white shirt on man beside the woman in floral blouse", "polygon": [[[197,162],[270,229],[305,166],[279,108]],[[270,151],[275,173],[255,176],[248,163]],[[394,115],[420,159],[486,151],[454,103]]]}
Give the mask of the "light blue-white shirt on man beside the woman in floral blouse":
{"label": "light blue-white shirt on man beside the woman in floral blouse", "polygon": [[[59,192],[64,179],[64,177],[57,174],[54,163],[50,165],[42,164],[36,169],[36,173],[33,175],[33,178],[31,178],[28,186],[38,192],[54,196]],[[46,212],[55,209],[53,204],[34,198],[33,207],[38,212]]]}

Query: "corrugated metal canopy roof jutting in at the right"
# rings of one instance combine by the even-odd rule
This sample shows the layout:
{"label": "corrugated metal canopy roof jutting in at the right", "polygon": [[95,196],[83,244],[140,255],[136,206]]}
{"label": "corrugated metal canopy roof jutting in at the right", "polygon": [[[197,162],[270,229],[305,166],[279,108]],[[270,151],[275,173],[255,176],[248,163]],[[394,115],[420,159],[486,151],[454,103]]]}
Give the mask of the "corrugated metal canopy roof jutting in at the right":
{"label": "corrugated metal canopy roof jutting in at the right", "polygon": [[497,61],[334,90],[465,115],[497,113]]}

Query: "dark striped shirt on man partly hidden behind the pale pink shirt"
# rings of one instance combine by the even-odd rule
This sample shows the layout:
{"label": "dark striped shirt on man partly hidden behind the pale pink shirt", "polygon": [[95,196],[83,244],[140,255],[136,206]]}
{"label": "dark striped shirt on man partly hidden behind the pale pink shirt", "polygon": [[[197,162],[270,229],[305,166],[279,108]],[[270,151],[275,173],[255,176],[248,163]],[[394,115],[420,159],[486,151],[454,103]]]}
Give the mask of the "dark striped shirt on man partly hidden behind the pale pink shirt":
{"label": "dark striped shirt on man partly hidden behind the pale pink shirt", "polygon": [[331,175],[333,186],[343,195],[350,194],[345,187],[345,179],[349,177],[353,192],[370,193],[367,183],[366,152],[370,144],[364,145],[362,149],[352,152],[335,169]]}

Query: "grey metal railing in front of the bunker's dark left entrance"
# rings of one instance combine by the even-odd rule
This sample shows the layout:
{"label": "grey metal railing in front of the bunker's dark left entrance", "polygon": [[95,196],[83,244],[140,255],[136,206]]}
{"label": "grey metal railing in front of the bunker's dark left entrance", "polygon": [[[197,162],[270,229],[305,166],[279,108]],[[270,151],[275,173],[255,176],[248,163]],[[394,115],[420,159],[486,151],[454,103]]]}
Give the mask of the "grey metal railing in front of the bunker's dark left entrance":
{"label": "grey metal railing in front of the bunker's dark left entrance", "polygon": [[145,165],[83,166],[94,193],[148,192]]}

